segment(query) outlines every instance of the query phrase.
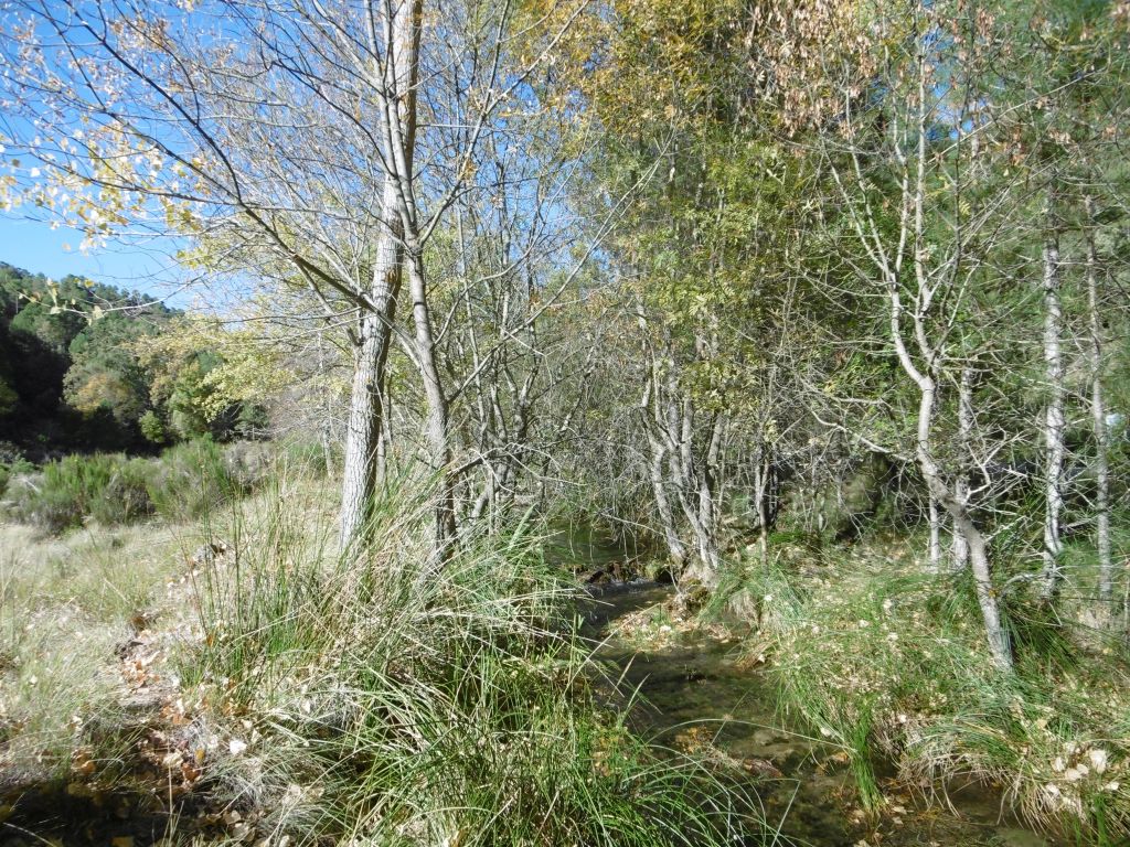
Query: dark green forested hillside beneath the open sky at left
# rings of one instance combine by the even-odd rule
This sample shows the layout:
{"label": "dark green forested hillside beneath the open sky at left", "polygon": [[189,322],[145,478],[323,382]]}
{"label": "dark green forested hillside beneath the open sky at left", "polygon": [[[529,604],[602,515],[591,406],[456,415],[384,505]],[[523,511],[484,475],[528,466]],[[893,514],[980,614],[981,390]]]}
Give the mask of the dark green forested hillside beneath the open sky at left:
{"label": "dark green forested hillside beneath the open sky at left", "polygon": [[205,381],[219,359],[199,340],[179,357],[146,353],[142,342],[168,335],[179,314],[113,286],[0,264],[0,442],[43,457],[254,435],[261,412],[231,401],[210,411],[217,390]]}

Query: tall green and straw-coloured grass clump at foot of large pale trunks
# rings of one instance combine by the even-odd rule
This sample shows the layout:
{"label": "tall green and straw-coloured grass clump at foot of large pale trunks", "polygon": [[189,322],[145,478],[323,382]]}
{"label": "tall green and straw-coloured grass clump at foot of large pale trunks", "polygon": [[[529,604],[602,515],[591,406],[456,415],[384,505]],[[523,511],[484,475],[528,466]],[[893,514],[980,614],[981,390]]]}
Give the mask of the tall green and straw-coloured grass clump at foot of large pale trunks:
{"label": "tall green and straw-coloured grass clump at foot of large pale trunks", "polygon": [[[417,486],[395,487],[399,491]],[[305,488],[225,527],[182,675],[233,716],[224,791],[298,840],[732,844],[745,807],[598,707],[570,585],[525,527],[438,560],[426,496],[374,505],[340,555]],[[246,723],[242,723],[246,722]],[[250,744],[243,750],[243,744]]]}

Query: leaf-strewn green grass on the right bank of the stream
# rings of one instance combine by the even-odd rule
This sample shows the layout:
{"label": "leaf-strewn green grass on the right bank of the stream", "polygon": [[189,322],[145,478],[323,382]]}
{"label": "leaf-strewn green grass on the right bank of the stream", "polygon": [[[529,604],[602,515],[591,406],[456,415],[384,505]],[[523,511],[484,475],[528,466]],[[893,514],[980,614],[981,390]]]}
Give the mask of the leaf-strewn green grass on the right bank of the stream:
{"label": "leaf-strewn green grass on the right bank of the stream", "polygon": [[[849,757],[864,806],[898,781],[993,784],[1034,827],[1079,844],[1130,837],[1130,670],[1122,648],[1011,597],[1017,671],[989,661],[972,585],[879,543],[728,575],[759,612],[783,706]],[[1070,577],[1069,577],[1070,578]],[[1076,588],[1067,588],[1067,592]]]}

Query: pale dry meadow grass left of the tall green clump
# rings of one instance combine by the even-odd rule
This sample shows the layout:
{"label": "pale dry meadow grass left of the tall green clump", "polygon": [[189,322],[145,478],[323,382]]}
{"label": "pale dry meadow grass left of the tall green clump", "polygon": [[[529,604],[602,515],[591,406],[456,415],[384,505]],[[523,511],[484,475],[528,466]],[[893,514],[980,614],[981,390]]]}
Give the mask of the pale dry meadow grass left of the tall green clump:
{"label": "pale dry meadow grass left of the tall green clump", "polygon": [[[329,492],[307,488],[324,509]],[[129,727],[151,717],[158,689],[176,690],[171,660],[199,629],[193,587],[207,568],[194,552],[253,523],[264,497],[203,523],[89,523],[61,538],[0,524],[0,774],[56,778],[76,756],[128,769]]]}

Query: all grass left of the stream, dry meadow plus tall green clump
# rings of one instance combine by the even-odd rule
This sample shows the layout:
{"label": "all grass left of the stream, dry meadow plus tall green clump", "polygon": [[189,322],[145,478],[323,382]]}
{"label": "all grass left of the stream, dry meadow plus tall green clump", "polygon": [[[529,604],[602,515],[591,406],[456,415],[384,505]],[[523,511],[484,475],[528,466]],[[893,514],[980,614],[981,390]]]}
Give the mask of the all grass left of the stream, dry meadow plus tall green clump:
{"label": "all grass left of the stream, dry meadow plus tall green clump", "polygon": [[[425,487],[394,488],[350,556],[330,481],[285,468],[193,523],[3,525],[0,775],[192,792],[209,828],[169,832],[197,845],[758,836],[732,775],[653,751],[598,700],[538,533],[472,534],[441,561]],[[190,560],[202,541],[226,552]],[[137,667],[115,655],[131,636]]]}

